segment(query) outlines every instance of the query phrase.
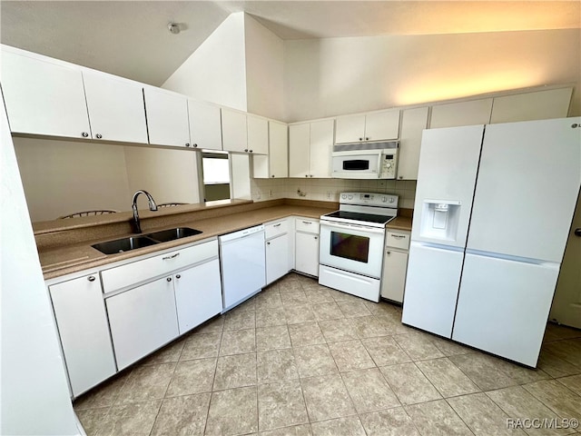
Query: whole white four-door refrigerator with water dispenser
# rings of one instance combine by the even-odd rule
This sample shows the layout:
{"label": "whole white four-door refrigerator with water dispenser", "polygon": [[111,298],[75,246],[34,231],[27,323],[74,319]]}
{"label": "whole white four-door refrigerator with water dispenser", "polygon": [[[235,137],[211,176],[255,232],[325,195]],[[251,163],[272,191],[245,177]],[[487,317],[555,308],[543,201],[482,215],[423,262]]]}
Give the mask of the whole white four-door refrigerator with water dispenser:
{"label": "whole white four-door refrigerator with water dispenser", "polygon": [[580,123],[424,131],[402,322],[537,365],[581,184]]}

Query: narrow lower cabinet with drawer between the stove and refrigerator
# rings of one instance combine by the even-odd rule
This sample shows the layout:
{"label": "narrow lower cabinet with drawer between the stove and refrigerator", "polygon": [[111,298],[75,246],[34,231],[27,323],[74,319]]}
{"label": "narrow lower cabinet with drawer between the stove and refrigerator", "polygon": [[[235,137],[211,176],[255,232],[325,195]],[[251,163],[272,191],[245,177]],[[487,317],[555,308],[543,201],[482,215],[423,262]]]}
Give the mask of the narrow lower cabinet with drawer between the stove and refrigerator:
{"label": "narrow lower cabinet with drawer between the stove and refrigerator", "polygon": [[408,271],[409,236],[406,231],[388,231],[381,276],[381,297],[403,302]]}

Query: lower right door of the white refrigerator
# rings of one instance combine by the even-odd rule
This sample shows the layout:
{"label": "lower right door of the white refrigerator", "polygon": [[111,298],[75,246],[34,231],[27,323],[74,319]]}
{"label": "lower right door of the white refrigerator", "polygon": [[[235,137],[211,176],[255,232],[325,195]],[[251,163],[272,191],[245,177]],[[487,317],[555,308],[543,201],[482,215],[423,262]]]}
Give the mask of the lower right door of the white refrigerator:
{"label": "lower right door of the white refrigerator", "polygon": [[452,339],[537,366],[559,265],[467,253]]}

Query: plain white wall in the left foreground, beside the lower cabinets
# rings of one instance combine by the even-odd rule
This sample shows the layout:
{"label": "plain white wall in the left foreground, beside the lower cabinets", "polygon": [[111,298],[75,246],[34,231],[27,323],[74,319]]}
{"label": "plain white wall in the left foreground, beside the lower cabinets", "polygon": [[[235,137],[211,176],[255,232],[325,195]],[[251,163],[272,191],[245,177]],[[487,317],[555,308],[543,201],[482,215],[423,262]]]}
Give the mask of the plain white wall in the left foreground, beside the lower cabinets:
{"label": "plain white wall in the left foreground, beside the lower cabinets", "polygon": [[0,434],[80,434],[4,104],[0,134]]}

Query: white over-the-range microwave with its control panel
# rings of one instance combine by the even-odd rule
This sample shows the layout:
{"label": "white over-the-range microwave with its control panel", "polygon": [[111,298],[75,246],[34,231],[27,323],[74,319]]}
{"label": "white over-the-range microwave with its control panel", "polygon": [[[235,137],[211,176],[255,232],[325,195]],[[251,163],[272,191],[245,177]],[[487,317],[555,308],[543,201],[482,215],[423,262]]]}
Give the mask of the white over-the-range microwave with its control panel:
{"label": "white over-the-range microwave with its control panel", "polygon": [[395,179],[397,141],[333,146],[332,177],[340,179]]}

